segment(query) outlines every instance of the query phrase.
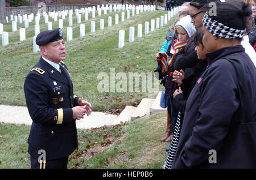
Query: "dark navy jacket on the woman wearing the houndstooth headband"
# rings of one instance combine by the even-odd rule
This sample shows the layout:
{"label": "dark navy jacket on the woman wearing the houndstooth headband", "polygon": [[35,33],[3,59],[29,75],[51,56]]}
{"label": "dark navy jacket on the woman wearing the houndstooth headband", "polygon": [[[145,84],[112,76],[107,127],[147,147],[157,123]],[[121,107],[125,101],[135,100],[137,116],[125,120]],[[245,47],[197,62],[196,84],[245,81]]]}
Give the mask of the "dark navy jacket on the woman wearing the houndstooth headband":
{"label": "dark navy jacket on the woman wearing the houndstooth headband", "polygon": [[[236,158],[246,152],[237,151],[229,162],[225,158],[225,152],[229,153],[231,148],[226,144],[234,142],[229,136],[230,127],[241,123],[237,73],[225,58],[242,63],[251,97],[248,103],[256,119],[256,69],[245,49],[238,45],[207,53],[208,71],[197,81],[187,100],[172,168],[246,168],[241,166],[246,160],[238,162]],[[210,149],[216,150],[217,163],[209,163]],[[255,158],[254,152],[251,158]],[[222,162],[229,165],[223,166]]]}

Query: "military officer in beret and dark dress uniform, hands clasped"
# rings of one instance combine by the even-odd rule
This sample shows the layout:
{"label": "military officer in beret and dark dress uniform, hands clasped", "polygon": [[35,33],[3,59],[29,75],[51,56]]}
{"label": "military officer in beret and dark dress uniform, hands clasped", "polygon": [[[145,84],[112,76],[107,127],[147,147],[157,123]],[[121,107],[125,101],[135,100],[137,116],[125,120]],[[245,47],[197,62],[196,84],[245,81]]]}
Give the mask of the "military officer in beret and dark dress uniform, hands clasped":
{"label": "military officer in beret and dark dress uniform, hands clasped", "polygon": [[24,93],[32,119],[28,138],[31,168],[67,168],[77,148],[76,119],[92,112],[89,102],[73,94],[60,28],[36,37],[41,58],[28,72]]}

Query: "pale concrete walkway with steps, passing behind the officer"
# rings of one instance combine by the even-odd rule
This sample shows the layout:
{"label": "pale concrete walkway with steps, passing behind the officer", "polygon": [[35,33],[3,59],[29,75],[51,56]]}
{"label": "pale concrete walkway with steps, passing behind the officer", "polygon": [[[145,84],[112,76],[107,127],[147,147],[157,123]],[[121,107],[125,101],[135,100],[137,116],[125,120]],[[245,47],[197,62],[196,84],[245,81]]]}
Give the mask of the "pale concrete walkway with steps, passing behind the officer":
{"label": "pale concrete walkway with steps, passing behind the officer", "polygon": [[[160,92],[155,99],[144,98],[138,107],[126,106],[119,115],[105,114],[103,112],[92,112],[89,116],[76,121],[77,128],[92,128],[131,121],[146,115],[154,114],[166,109],[159,107]],[[26,106],[0,105],[0,122],[31,125],[32,119]]]}

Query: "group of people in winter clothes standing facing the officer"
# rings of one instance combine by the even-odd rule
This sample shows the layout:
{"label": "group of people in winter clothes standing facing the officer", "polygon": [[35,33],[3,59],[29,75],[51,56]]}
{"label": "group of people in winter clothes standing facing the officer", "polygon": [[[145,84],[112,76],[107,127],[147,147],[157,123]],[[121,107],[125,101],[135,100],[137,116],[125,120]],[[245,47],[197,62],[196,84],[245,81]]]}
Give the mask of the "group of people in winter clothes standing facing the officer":
{"label": "group of people in winter clothes standing facing the officer", "polygon": [[181,6],[155,60],[168,96],[163,168],[256,168],[254,18],[243,0]]}

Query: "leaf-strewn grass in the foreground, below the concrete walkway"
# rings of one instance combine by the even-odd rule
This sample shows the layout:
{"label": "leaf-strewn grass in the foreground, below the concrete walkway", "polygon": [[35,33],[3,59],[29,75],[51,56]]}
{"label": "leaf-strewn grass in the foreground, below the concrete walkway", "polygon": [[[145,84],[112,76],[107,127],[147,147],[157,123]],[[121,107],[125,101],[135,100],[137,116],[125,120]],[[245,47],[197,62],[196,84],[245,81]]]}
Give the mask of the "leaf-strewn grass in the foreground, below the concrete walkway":
{"label": "leaf-strewn grass in the foreground, below the concrete walkway", "polygon": [[[166,147],[166,112],[122,125],[79,129],[79,150],[68,168],[162,168]],[[30,168],[27,138],[30,126],[0,123],[0,168]]]}

